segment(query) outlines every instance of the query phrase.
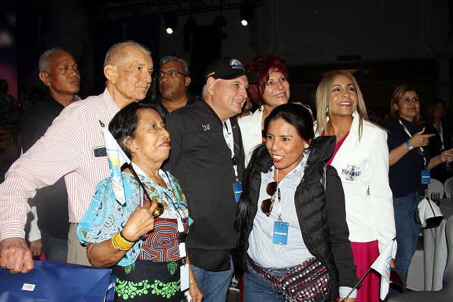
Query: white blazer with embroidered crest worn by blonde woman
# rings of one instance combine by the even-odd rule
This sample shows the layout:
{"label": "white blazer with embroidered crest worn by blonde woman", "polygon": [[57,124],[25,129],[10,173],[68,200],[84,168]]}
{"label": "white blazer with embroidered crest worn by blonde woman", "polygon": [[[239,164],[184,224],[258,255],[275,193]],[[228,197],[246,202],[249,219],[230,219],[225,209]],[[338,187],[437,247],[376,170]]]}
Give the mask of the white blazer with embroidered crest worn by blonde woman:
{"label": "white blazer with embroidered crest worn by blonde woman", "polygon": [[345,191],[350,240],[369,242],[377,239],[379,252],[382,252],[396,236],[393,199],[389,187],[387,132],[364,121],[359,141],[358,130],[357,114],[352,121],[350,133],[331,165],[336,168]]}

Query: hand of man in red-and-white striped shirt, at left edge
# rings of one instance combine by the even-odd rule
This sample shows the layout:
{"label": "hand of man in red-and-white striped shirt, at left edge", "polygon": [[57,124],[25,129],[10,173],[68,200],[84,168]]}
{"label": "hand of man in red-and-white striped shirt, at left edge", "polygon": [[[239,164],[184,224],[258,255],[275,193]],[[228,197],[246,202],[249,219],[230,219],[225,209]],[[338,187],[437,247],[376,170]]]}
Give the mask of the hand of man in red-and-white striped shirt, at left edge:
{"label": "hand of man in red-and-white striped shirt, at left edge", "polygon": [[11,273],[28,273],[34,268],[31,250],[24,238],[6,238],[0,241],[0,267]]}

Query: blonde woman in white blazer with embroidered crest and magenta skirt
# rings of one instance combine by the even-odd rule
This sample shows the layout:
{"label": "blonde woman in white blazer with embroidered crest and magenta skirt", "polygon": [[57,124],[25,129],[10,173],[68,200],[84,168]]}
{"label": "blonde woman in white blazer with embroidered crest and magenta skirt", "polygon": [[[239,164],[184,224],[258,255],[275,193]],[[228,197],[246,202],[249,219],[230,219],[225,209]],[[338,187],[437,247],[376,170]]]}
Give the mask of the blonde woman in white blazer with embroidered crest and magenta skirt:
{"label": "blonde woman in white blazer with embroidered crest and magenta skirt", "polygon": [[[359,85],[347,71],[335,71],[322,79],[316,105],[317,135],[337,137],[327,164],[336,168],[343,184],[354,264],[361,278],[395,238],[387,133],[368,121]],[[379,302],[379,292],[380,278],[370,273],[356,301]]]}

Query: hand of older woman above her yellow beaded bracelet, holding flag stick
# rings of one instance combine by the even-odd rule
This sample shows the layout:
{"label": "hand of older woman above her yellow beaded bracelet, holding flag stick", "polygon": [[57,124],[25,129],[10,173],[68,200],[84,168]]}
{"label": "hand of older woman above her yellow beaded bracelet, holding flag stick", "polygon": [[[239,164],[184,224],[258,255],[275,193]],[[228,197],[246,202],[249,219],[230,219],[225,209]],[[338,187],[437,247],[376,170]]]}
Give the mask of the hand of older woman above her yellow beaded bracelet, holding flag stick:
{"label": "hand of older woman above her yellow beaded bracelet, holding flag stick", "polygon": [[136,241],[145,233],[152,231],[154,229],[154,216],[152,213],[155,208],[157,208],[157,201],[147,202],[143,207],[136,208],[122,229],[122,236],[127,240]]}

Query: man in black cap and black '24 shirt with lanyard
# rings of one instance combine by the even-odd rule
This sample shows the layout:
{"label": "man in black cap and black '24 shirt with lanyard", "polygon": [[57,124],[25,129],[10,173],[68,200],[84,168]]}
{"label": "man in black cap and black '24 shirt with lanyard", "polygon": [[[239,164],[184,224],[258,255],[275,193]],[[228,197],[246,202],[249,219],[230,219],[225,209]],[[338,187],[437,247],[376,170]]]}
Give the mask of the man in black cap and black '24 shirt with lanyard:
{"label": "man in black cap and black '24 shirt with lanyard", "polygon": [[194,220],[185,240],[205,302],[224,302],[233,273],[236,205],[242,192],[244,152],[238,123],[249,82],[258,76],[233,57],[206,71],[202,99],[166,116],[171,135],[168,169],[184,190]]}

